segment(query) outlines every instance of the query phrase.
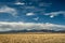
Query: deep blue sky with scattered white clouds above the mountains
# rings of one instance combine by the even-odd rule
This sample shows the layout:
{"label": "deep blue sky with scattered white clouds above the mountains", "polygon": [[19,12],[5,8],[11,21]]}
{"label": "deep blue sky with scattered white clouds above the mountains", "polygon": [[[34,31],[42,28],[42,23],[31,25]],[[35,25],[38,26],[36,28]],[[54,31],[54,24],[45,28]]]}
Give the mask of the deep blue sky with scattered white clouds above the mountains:
{"label": "deep blue sky with scattered white clouds above the mountains", "polygon": [[65,30],[65,0],[0,0],[0,31]]}

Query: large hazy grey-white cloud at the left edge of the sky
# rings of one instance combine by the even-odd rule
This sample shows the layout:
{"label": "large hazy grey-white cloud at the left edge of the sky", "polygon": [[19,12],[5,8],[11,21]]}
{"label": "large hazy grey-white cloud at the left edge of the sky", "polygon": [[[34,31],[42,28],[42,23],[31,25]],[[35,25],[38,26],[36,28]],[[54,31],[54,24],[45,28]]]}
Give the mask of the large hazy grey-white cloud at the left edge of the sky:
{"label": "large hazy grey-white cloud at the left edge of the sky", "polygon": [[13,16],[17,14],[16,10],[6,5],[3,5],[0,8],[0,13],[9,13]]}

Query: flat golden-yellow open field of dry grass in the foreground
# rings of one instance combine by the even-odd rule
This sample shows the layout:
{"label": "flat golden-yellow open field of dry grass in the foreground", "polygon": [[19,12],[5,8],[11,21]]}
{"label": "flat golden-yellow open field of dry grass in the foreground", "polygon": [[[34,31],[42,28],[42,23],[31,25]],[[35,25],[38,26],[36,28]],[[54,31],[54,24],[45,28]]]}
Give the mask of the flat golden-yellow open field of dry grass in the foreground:
{"label": "flat golden-yellow open field of dry grass in the foreground", "polygon": [[6,33],[0,43],[65,43],[65,33]]}

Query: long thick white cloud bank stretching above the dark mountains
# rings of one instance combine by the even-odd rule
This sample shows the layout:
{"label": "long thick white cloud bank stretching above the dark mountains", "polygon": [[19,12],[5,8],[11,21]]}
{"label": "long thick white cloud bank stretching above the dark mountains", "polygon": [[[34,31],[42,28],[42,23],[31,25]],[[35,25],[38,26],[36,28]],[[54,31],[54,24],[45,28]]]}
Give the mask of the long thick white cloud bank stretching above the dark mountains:
{"label": "long thick white cloud bank stretching above the dark mountains", "polygon": [[55,25],[55,24],[36,24],[36,23],[9,23],[9,22],[0,22],[0,31],[10,31],[10,30],[65,30],[65,26]]}

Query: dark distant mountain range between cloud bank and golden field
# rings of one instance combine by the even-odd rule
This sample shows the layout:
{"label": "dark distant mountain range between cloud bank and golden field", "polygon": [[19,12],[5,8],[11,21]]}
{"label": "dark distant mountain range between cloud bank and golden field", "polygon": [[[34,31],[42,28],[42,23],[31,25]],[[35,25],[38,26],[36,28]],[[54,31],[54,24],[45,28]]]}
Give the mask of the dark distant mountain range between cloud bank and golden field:
{"label": "dark distant mountain range between cloud bank and golden field", "polygon": [[0,33],[17,33],[17,32],[61,32],[61,33],[65,33],[65,30],[60,30],[60,31],[55,31],[55,30],[47,30],[47,29],[42,29],[42,30],[11,30],[11,31],[4,31],[4,32],[0,32]]}

